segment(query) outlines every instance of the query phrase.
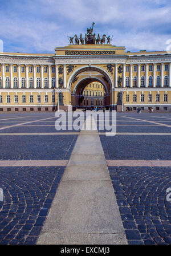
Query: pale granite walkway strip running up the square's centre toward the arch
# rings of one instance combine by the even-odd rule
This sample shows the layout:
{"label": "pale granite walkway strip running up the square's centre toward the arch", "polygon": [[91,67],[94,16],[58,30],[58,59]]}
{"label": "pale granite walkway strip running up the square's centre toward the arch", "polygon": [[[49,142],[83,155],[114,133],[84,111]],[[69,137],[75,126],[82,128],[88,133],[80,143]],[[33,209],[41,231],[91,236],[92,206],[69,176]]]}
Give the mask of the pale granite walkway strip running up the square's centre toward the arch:
{"label": "pale granite walkway strip running up the square's centre toward the arch", "polygon": [[79,133],[39,245],[128,243],[95,123],[93,127]]}

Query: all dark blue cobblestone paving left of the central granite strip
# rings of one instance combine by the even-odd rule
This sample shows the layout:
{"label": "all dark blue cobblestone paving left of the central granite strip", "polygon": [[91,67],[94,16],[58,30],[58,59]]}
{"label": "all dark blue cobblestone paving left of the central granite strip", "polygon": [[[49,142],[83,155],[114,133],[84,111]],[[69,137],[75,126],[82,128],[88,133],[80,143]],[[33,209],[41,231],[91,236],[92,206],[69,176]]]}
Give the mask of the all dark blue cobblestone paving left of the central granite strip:
{"label": "all dark blue cobblestone paving left of the central granite strip", "polygon": [[[48,117],[53,117],[51,123],[38,121],[29,124],[41,124],[41,127],[2,129],[1,133],[28,132],[30,135],[1,135],[0,160],[68,160],[77,135],[31,135],[32,132],[57,132],[54,113],[2,114],[0,123],[5,127]],[[53,126],[46,127],[46,124]],[[0,202],[0,244],[36,243],[64,169],[64,166],[0,167],[0,188],[4,194],[4,200]]]}

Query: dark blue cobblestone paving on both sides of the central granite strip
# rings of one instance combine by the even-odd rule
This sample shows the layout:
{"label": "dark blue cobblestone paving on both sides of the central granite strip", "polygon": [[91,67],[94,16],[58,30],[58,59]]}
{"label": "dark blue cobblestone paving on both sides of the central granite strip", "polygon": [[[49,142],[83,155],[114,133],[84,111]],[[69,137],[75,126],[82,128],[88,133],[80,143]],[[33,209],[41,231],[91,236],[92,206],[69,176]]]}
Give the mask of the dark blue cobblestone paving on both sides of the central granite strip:
{"label": "dark blue cobblestone paving on both sides of the central granite strip", "polygon": [[[74,131],[62,131],[66,135],[31,135],[58,132],[54,126],[46,126],[54,125],[55,120],[54,113],[1,114],[0,128],[36,122],[0,130],[0,160],[70,159],[78,137]],[[100,135],[105,159],[171,160],[171,128],[155,123],[171,125],[170,114],[118,113],[117,132],[168,135]],[[2,135],[26,132],[30,135]],[[0,188],[4,193],[4,201],[0,202],[0,244],[36,243],[51,202],[58,193],[64,169],[64,166],[0,168]],[[129,244],[171,244],[171,202],[166,201],[166,189],[171,188],[171,166],[128,164],[108,169]]]}

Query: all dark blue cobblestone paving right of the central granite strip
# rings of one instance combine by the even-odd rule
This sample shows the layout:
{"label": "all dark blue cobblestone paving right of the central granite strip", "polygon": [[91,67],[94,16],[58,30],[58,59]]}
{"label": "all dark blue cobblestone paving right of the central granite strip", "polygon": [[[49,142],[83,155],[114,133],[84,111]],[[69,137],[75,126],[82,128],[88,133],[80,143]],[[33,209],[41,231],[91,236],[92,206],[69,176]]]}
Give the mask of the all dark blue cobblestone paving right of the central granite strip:
{"label": "all dark blue cobblestone paving right of the central granite strip", "polygon": [[[167,125],[171,120],[170,115],[161,113],[124,116]],[[169,127],[145,127],[144,124],[150,123],[131,121],[121,113],[117,124],[133,125],[117,127],[117,132],[170,132]],[[142,127],[138,128],[137,124]],[[109,160],[171,159],[170,136],[116,135],[100,136],[100,139],[105,158]],[[171,202],[166,201],[166,189],[171,188],[171,166],[110,166],[108,169],[129,244],[171,244]]]}

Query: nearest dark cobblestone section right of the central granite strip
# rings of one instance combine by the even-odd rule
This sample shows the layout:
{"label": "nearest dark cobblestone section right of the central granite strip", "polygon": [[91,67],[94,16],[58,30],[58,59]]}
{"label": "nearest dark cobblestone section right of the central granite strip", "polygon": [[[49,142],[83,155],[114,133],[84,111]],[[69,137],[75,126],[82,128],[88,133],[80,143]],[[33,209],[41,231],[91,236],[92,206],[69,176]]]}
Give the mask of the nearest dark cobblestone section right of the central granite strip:
{"label": "nearest dark cobblestone section right of the central granite strip", "polygon": [[170,244],[170,168],[109,167],[109,173],[129,244]]}

